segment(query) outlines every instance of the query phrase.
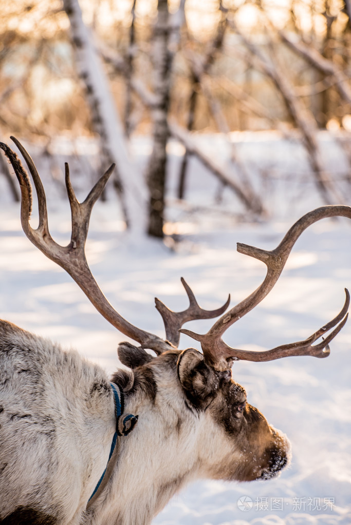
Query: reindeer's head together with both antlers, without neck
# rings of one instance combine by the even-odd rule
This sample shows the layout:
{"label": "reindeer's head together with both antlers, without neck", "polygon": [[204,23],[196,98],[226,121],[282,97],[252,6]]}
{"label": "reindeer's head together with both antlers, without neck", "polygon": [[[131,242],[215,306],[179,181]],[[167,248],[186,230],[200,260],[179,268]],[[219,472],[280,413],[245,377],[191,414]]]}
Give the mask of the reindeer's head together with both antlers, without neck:
{"label": "reindeer's head together with both antlers, without neck", "polygon": [[[152,399],[154,405],[173,405],[173,432],[181,432],[182,425],[191,428],[192,422],[200,421],[197,428],[203,447],[198,447],[198,469],[203,476],[214,479],[236,479],[250,481],[269,479],[286,464],[289,445],[286,437],[270,426],[264,416],[246,402],[245,390],[231,377],[231,367],[236,360],[271,361],[292,355],[312,355],[324,358],[329,354],[328,343],[335,337],[347,320],[349,293],[340,313],[324,327],[304,341],[278,346],[267,351],[244,351],[231,348],[222,340],[222,335],[235,321],[256,306],[274,286],[286,259],[301,233],[309,225],[324,217],[336,215],[351,218],[348,206],[324,206],[306,214],[288,231],[281,244],[272,251],[261,250],[243,244],[238,250],[255,257],[267,266],[267,275],[262,285],[249,297],[224,313],[230,298],[223,307],[203,310],[193,292],[182,279],[189,297],[189,308],[173,312],[156,299],[156,308],[161,313],[166,328],[166,338],[141,330],[123,319],[112,308],[99,289],[88,268],[85,258],[85,241],[92,206],[104,189],[113,170],[113,165],[92,188],[83,203],[75,197],[69,180],[66,164],[66,186],[71,206],[72,235],[68,246],[55,243],[49,234],[45,193],[34,163],[23,146],[13,139],[22,152],[32,173],[39,205],[39,226],[29,225],[32,191],[29,178],[16,155],[0,143],[11,161],[22,193],[21,220],[27,237],[51,260],[63,267],[86,293],[97,310],[120,332],[137,341],[140,346],[122,343],[119,357],[131,371],[119,371],[112,378],[122,386],[127,396],[143,396]],[[181,329],[193,319],[220,317],[206,334],[197,334]],[[321,342],[313,344],[327,331],[333,329]],[[178,350],[180,332],[188,334],[201,343],[202,352],[195,349]],[[152,350],[151,356],[146,349]],[[141,399],[141,397],[140,397]],[[173,400],[173,401],[172,401]],[[140,401],[141,402],[141,401]],[[178,411],[178,412],[177,412]],[[142,424],[141,420],[140,424]],[[202,429],[202,430],[201,430]]]}

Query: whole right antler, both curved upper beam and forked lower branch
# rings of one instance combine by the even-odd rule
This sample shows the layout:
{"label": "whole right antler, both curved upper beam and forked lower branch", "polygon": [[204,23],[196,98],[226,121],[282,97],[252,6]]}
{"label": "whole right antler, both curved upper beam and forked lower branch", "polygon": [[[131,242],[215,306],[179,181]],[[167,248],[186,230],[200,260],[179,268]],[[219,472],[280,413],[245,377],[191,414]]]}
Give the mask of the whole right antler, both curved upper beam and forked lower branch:
{"label": "whole right antler, both curved upper beam and forked lower branch", "polygon": [[[335,335],[343,328],[347,315],[350,296],[347,290],[346,301],[340,313],[323,328],[317,330],[310,338],[305,341],[277,346],[272,350],[264,352],[244,351],[231,348],[222,340],[223,333],[228,328],[243,317],[247,312],[250,312],[259,302],[266,297],[275,285],[278,277],[281,275],[285,262],[290,254],[292,247],[302,232],[311,224],[326,217],[348,217],[351,218],[350,206],[322,206],[312,212],[304,215],[288,230],[284,239],[274,250],[262,250],[254,246],[238,243],[238,251],[244,255],[249,255],[255,259],[259,259],[267,266],[267,274],[261,286],[257,288],[250,296],[246,297],[239,304],[236,304],[228,312],[218,319],[213,327],[205,334],[198,334],[190,330],[182,329],[182,333],[189,335],[191,338],[201,342],[201,348],[205,357],[205,361],[213,366],[216,370],[226,370],[230,368],[234,360],[246,361],[271,361],[274,359],[283,358],[288,355],[314,355],[315,357],[326,357],[329,354],[327,350],[328,343],[335,337]],[[316,346],[312,343],[323,333],[333,328],[339,321],[335,330],[328,335],[328,337]]]}

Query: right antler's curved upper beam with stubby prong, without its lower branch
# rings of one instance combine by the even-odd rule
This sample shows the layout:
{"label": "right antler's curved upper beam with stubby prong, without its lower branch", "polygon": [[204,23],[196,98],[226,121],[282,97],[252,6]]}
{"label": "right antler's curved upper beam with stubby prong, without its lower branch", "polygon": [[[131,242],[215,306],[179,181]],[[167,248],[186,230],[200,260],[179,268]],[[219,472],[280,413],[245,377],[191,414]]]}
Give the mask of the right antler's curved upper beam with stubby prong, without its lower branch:
{"label": "right antler's curved upper beam with stubby prong, without its lower branch", "polygon": [[[224,314],[224,316],[218,319],[206,334],[197,334],[190,330],[180,330],[182,333],[185,333],[193,339],[201,342],[201,348],[205,360],[214,366],[215,369],[226,370],[230,366],[231,360],[235,360],[236,358],[247,359],[247,357],[240,357],[240,355],[244,355],[241,353],[243,351],[232,349],[223,342],[223,333],[233,323],[238,321],[238,319],[243,317],[247,312],[250,312],[271,291],[283,271],[285,262],[296,240],[304,230],[318,220],[336,216],[351,218],[351,207],[343,205],[322,206],[307,213],[301,217],[301,219],[299,219],[290,230],[288,230],[281,243],[271,251],[238,243],[238,251],[240,253],[249,255],[264,262],[267,267],[267,274],[264,281],[249,297],[246,297],[246,299],[239,304],[236,304],[236,306],[231,308]],[[256,353],[257,352],[252,352],[252,355],[255,355]],[[252,360],[255,360],[255,358]]]}

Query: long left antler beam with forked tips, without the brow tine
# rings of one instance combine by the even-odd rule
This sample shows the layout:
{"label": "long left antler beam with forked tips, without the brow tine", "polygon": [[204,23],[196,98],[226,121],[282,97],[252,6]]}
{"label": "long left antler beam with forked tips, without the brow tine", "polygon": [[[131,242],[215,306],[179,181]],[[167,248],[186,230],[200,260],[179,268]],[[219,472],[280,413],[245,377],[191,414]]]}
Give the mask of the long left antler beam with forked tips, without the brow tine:
{"label": "long left antler beam with forked tips, without the brow tine", "polygon": [[150,348],[158,352],[169,350],[171,348],[169,343],[163,341],[163,339],[159,338],[157,335],[135,327],[112,308],[111,304],[108,302],[98,287],[97,282],[92,276],[86,261],[84,246],[88,232],[91,209],[102,190],[104,190],[104,187],[108,181],[108,177],[110,176],[114,166],[110,166],[107,172],[102,175],[83,203],[79,203],[77,201],[73,187],[71,186],[69,180],[68,165],[66,166],[66,187],[72,214],[72,238],[68,246],[60,246],[59,244],[55,243],[53,238],[51,238],[47,229],[45,192],[38,172],[35,169],[33,160],[30,159],[29,154],[24,149],[22,144],[20,144],[16,139],[13,140],[23,154],[24,159],[28,164],[29,170],[33,175],[35,187],[38,192],[38,201],[40,207],[39,213],[40,217],[42,217],[39,227],[36,230],[29,226],[32,188],[30,186],[28,175],[23,170],[23,167],[17,159],[16,154],[10,148],[8,148],[6,144],[0,143],[0,148],[5,151],[6,155],[11,161],[20,183],[22,191],[22,226],[28,239],[32,241],[32,243],[37,248],[39,248],[39,250],[42,251],[49,259],[53,260],[56,262],[56,264],[67,271],[67,273],[76,281],[77,285],[82,289],[82,291],[84,291],[85,295],[98,310],[98,312],[101,313],[101,315],[105,317],[105,319],[110,324],[112,324],[112,326],[117,328],[120,332],[127,335],[131,339],[138,341],[143,348]]}

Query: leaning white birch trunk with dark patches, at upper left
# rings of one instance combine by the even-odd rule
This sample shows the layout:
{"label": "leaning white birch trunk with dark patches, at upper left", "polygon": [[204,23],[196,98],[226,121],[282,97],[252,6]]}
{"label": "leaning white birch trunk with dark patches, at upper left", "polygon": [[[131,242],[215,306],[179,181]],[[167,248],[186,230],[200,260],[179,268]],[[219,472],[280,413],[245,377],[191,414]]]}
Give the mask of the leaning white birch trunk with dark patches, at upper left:
{"label": "leaning white birch trunk with dark patches, at upper left", "polygon": [[126,224],[129,225],[129,214],[121,178],[127,180],[132,168],[127,158],[120,119],[92,35],[82,20],[78,0],[63,0],[63,3],[70,21],[78,75],[86,88],[92,126],[100,136],[101,164],[104,164],[103,169],[106,169],[107,165],[112,162],[117,165],[115,187]]}

